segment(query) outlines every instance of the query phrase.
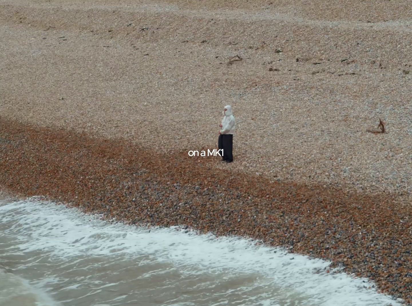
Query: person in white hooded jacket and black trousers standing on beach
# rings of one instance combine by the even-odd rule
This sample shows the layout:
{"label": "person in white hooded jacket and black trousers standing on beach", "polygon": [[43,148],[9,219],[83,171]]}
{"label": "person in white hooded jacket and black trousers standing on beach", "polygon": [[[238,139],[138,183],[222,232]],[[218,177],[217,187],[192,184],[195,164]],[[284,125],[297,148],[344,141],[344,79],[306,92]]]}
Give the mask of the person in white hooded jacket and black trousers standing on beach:
{"label": "person in white hooded jacket and black trousers standing on beach", "polygon": [[223,110],[222,123],[219,125],[219,149],[223,149],[222,161],[233,162],[233,132],[236,128],[235,119],[233,116],[232,107],[226,105]]}

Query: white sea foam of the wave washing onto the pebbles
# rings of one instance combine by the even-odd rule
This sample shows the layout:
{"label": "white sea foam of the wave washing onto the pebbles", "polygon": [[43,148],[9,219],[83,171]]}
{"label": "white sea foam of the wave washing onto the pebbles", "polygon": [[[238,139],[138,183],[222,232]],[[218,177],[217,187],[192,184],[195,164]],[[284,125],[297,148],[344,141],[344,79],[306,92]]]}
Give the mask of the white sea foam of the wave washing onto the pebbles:
{"label": "white sea foam of the wave washing onto the pebbles", "polygon": [[[176,227],[149,230],[119,223],[110,224],[77,209],[35,199],[0,206],[0,215],[2,222],[11,224],[7,234],[21,241],[15,252],[47,251],[51,257],[71,260],[72,264],[74,258],[82,260],[85,255],[116,256],[120,266],[121,260],[136,257],[139,258],[136,265],[155,260],[173,264],[180,273],[192,275],[207,272],[230,278],[236,273],[246,284],[256,283],[256,279],[261,278],[263,287],[273,285],[284,294],[290,292],[290,299],[298,294],[302,300],[296,305],[400,305],[399,301],[378,294],[374,288],[367,289],[373,286],[367,279],[351,278],[345,273],[326,273],[330,262],[287,253],[281,248],[256,246],[252,240],[216,238],[212,234],[199,235]],[[159,273],[162,271],[147,271],[141,278]],[[121,279],[118,281],[121,282]],[[102,283],[90,294],[116,284]],[[207,286],[207,283],[199,284],[202,285]],[[75,289],[75,285],[69,289]],[[249,288],[245,286],[238,290],[244,290],[244,294],[247,294]],[[277,305],[270,297],[270,292],[262,290],[262,294],[266,294],[267,299],[259,305]],[[225,304],[219,302],[216,305]]]}

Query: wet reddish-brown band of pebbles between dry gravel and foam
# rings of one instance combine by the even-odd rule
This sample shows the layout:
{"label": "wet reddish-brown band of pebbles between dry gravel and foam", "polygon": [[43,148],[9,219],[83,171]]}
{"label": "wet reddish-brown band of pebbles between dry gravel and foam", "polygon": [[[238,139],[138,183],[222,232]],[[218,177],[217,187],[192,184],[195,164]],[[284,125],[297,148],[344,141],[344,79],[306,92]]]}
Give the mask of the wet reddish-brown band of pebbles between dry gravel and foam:
{"label": "wet reddish-brown band of pebbles between dry gravel and foam", "polygon": [[[392,197],[222,173],[124,140],[0,120],[0,185],[126,224],[185,225],[331,260],[411,303],[412,208]],[[393,253],[397,250],[397,253]],[[408,253],[409,252],[409,253]],[[396,264],[396,263],[400,263]]]}

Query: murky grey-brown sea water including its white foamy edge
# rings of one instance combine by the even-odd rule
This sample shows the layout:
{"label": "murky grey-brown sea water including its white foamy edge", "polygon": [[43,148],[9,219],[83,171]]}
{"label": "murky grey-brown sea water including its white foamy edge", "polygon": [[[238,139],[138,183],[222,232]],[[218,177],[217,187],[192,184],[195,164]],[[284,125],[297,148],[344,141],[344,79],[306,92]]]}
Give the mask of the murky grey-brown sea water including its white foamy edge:
{"label": "murky grey-brown sea water including its white foamy edge", "polygon": [[[0,202],[0,306],[387,306],[367,279],[239,237]],[[372,287],[368,289],[368,287]]]}

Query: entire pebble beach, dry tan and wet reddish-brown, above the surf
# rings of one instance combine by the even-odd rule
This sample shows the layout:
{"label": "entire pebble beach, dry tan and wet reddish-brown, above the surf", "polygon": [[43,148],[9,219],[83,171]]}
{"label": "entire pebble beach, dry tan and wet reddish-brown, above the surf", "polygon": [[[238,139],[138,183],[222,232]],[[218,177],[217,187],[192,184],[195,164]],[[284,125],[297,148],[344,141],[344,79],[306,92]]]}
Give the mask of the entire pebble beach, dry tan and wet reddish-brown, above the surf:
{"label": "entire pebble beach, dry tan and wet reddish-brown, above the surf", "polygon": [[[283,246],[410,304],[411,12],[0,0],[0,188]],[[234,162],[190,157],[227,104]]]}

